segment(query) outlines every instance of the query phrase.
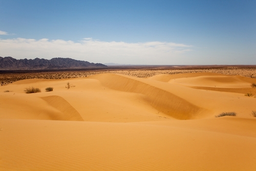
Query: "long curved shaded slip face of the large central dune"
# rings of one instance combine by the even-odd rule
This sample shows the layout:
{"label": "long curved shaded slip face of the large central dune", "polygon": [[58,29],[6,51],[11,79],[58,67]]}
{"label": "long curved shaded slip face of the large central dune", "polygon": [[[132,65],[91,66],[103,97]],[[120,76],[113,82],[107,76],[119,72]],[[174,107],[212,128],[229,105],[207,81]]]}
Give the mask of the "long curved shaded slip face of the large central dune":
{"label": "long curved shaded slip face of the large central dune", "polygon": [[196,119],[206,112],[205,109],[173,93],[139,81],[139,78],[132,79],[116,74],[99,74],[92,77],[98,79],[103,86],[114,90],[144,94],[155,109],[176,119]]}

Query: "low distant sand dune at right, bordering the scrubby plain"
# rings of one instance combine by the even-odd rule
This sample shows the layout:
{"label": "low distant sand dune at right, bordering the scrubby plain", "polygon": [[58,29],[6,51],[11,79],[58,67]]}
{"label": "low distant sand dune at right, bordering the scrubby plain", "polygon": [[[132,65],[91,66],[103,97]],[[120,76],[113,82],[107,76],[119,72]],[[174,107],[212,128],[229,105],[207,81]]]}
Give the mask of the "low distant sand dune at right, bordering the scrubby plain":
{"label": "low distant sand dune at right, bordering the scrubby plain", "polygon": [[239,75],[228,76],[218,73],[185,73],[176,75],[156,75],[148,79],[178,83],[193,89],[256,94],[256,89],[250,87],[250,84],[256,82],[256,79]]}

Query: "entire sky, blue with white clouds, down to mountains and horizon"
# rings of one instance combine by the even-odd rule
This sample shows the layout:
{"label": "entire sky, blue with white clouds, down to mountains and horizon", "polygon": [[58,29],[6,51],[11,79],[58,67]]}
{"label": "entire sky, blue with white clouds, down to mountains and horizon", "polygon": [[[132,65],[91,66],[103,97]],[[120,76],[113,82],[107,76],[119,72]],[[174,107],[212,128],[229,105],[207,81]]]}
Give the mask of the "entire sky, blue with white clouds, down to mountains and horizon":
{"label": "entire sky, blue with white clouds, down to mountains and horizon", "polygon": [[4,1],[0,56],[256,65],[256,1]]}

